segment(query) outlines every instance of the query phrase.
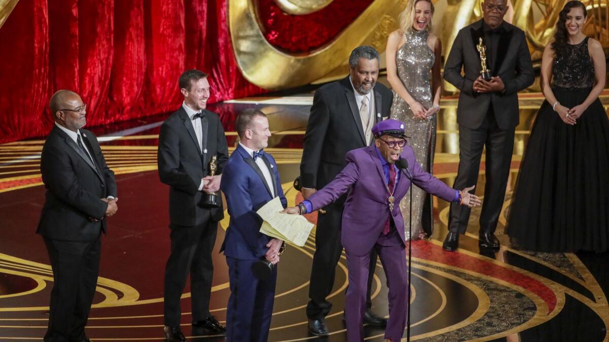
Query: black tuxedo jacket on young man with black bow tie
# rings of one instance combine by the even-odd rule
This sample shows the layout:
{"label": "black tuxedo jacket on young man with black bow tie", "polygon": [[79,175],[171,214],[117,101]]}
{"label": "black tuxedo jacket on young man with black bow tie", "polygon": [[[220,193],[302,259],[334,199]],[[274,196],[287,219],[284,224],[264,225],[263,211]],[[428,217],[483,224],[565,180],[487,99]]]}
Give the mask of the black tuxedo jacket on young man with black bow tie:
{"label": "black tuxedo jacket on young man with black bow tie", "polygon": [[[169,221],[172,226],[198,226],[211,211],[213,220],[224,218],[222,206],[204,208],[199,191],[201,178],[209,175],[211,156],[217,156],[216,175],[228,160],[227,139],[218,114],[203,110],[203,151],[199,148],[191,119],[182,106],[163,122],[158,137],[158,174],[169,185]],[[206,152],[205,152],[206,150]]]}

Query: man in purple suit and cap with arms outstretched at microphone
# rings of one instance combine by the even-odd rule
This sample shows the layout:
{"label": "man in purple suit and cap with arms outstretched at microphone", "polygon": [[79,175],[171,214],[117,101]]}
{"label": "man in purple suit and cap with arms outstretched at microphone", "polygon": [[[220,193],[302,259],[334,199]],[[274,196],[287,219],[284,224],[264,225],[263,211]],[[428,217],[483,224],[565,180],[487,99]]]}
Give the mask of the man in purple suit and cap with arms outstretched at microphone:
{"label": "man in purple suit and cap with arms outstretched at microphone", "polygon": [[[479,206],[481,201],[469,193],[473,186],[454,190],[421,169],[412,148],[404,148],[407,137],[403,122],[381,121],[372,128],[372,133],[375,145],[347,153],[347,166],[331,183],[284,212],[306,214],[316,211],[348,192],[342,215],[342,245],[349,270],[345,298],[347,340],[364,340],[362,321],[368,267],[370,254],[376,250],[389,285],[389,321],[385,338],[400,341],[406,327],[408,283],[404,229],[396,229],[404,226],[404,218],[397,204],[411,183],[446,201],[470,207]],[[400,159],[406,159],[407,164],[398,162]],[[400,167],[404,168],[400,170]]]}

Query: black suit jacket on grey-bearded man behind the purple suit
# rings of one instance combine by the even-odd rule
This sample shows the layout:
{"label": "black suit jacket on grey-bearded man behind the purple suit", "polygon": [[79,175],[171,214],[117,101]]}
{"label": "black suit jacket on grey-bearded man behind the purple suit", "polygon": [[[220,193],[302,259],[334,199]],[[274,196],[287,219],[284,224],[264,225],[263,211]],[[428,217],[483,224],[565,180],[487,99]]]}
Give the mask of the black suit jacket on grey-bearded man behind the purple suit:
{"label": "black suit jacket on grey-bearded man behind the purple suit", "polygon": [[[375,124],[389,117],[393,93],[376,83]],[[347,166],[347,152],[368,145],[349,76],[315,91],[303,141],[300,181],[303,187],[322,189]],[[344,202],[345,196],[338,201]]]}

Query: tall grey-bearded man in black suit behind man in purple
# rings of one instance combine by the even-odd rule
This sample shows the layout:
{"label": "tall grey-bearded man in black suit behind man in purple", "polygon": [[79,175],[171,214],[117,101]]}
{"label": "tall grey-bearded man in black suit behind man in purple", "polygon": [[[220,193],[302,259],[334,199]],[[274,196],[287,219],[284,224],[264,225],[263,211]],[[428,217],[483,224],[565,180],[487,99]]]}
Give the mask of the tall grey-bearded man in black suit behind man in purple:
{"label": "tall grey-bearded man in black suit behind man in purple", "polygon": [[[330,183],[347,166],[347,152],[373,142],[372,127],[389,117],[392,92],[377,84],[380,57],[370,46],[359,46],[349,57],[350,74],[315,91],[311,115],[303,141],[300,182],[303,197],[314,194]],[[307,316],[309,331],[317,336],[328,335],[325,316],[332,309],[326,297],[334,285],[336,265],[342,253],[340,226],[346,196],[329,204],[317,218],[315,254],[311,268]],[[370,286],[376,267],[376,254],[370,259],[368,301],[364,323],[385,326],[387,319],[371,310]]]}

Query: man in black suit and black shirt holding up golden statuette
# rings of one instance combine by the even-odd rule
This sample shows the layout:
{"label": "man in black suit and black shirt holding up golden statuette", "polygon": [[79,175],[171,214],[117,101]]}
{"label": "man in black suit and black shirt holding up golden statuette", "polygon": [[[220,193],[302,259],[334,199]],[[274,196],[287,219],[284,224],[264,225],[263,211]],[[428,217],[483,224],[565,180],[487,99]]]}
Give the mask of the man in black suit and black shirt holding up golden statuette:
{"label": "man in black suit and black shirt holding up golden statuette", "polygon": [[[482,149],[487,148],[479,244],[490,248],[499,247],[495,228],[519,120],[518,91],[535,80],[524,32],[503,20],[507,9],[505,0],[482,2],[484,18],[459,31],[444,67],[446,81],[461,91],[457,106],[460,152],[456,189],[476,184]],[[486,46],[487,68],[493,75],[489,82],[480,76],[481,60],[476,49],[480,38]],[[461,74],[462,68],[465,75]],[[468,206],[451,204],[445,250],[454,251],[459,246],[459,234],[467,229],[470,210]]]}

